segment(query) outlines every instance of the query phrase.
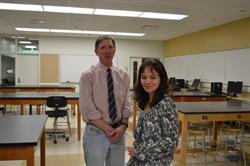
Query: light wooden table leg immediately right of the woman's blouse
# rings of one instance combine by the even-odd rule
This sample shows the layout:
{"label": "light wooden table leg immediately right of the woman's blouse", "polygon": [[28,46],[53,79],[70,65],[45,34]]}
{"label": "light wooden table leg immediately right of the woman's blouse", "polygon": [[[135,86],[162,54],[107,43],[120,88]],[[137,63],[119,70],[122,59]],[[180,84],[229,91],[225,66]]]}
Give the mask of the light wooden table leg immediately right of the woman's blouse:
{"label": "light wooden table leg immediately right of the woman's blouse", "polygon": [[188,124],[185,116],[182,119],[182,125],[181,125],[181,153],[180,153],[180,166],[186,165],[187,160],[187,130],[188,130]]}

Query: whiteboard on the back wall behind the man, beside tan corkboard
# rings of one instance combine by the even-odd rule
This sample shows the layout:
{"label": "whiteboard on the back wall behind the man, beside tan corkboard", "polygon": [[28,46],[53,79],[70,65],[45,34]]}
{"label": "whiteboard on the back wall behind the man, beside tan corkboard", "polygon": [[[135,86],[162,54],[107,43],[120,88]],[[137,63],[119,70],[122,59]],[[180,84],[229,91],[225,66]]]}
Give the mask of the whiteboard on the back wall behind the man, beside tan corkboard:
{"label": "whiteboard on the back wall behind the man, beside tan corkboard", "polygon": [[[116,56],[113,59],[117,65]],[[78,83],[82,72],[99,62],[96,55],[60,55],[60,80],[61,82]]]}

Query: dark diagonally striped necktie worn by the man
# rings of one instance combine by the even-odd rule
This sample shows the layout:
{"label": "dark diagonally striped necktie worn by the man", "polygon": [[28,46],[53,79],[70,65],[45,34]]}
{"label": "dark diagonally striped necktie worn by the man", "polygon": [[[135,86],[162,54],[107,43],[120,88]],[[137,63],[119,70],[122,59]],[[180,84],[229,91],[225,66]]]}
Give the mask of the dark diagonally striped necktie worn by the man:
{"label": "dark diagonally striped necktie worn by the man", "polygon": [[107,84],[108,84],[108,102],[109,102],[109,117],[112,121],[115,121],[117,117],[114,85],[111,69],[107,69]]}

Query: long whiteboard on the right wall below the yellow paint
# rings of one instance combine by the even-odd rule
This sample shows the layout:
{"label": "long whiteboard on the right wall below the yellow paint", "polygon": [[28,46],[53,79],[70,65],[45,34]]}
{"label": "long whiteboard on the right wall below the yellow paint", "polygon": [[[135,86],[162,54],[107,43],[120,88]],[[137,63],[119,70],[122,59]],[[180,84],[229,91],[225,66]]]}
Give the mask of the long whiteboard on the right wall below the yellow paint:
{"label": "long whiteboard on the right wall below the yellow paint", "polygon": [[164,65],[169,77],[203,82],[243,81],[250,86],[250,49],[166,57]]}

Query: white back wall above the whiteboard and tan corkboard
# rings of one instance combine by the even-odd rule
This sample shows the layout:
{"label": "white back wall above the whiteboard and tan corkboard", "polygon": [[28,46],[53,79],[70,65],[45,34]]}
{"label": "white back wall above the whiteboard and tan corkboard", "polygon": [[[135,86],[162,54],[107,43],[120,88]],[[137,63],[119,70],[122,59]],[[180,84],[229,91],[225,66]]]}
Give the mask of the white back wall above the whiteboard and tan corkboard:
{"label": "white back wall above the whiteboard and tan corkboard", "polygon": [[[41,53],[59,55],[95,55],[96,38],[40,37]],[[165,42],[115,39],[118,65],[129,70],[130,57],[164,57]]]}

